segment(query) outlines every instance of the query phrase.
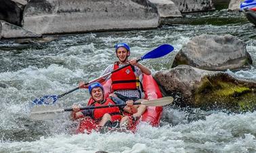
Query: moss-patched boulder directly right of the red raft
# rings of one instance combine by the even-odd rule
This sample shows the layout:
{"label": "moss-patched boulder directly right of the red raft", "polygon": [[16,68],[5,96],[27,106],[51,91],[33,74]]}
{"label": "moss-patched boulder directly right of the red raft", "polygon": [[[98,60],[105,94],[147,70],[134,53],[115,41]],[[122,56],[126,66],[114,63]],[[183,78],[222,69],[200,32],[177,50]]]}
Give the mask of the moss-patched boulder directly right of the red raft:
{"label": "moss-patched boulder directly right of the red raft", "polygon": [[256,108],[256,81],[242,80],[229,73],[179,65],[159,71],[154,78],[181,106],[236,112]]}

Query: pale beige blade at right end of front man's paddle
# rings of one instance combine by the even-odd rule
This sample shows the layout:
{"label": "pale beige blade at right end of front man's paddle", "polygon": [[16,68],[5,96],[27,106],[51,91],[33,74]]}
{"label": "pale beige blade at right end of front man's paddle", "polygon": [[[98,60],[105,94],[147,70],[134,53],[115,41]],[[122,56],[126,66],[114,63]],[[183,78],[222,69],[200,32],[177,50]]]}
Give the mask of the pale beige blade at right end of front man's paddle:
{"label": "pale beige blade at right end of front man's paddle", "polygon": [[173,97],[165,96],[163,98],[154,99],[154,100],[140,100],[140,101],[137,100],[137,102],[141,102],[146,106],[165,106],[173,102]]}

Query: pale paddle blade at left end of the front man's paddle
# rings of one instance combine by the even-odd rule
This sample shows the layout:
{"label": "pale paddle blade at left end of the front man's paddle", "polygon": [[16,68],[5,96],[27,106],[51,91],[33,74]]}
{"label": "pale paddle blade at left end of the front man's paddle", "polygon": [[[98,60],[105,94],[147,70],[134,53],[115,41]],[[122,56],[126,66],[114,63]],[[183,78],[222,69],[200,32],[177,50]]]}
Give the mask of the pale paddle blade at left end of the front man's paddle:
{"label": "pale paddle blade at left end of the front man's paddle", "polygon": [[34,106],[30,111],[30,119],[34,120],[46,120],[54,119],[58,116],[58,113],[64,112],[64,109],[60,109],[56,105],[39,104]]}

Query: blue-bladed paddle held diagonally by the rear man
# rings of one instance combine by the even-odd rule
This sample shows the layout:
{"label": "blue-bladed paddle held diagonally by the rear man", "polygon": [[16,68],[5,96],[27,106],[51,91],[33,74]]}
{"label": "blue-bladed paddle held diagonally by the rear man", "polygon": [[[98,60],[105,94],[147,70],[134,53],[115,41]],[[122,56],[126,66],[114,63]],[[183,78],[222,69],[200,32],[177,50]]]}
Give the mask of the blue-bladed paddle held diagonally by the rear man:
{"label": "blue-bladed paddle held diagonally by the rear man", "polygon": [[[170,44],[162,44],[161,46],[157,47],[156,49],[154,49],[154,50],[146,53],[142,57],[140,57],[140,59],[137,59],[137,61],[142,61],[144,59],[156,59],[158,57],[163,57],[163,56],[167,55],[168,53],[171,53],[171,51],[173,51],[173,49],[174,49],[173,46],[171,46]],[[115,69],[114,71],[106,73],[106,74],[100,76],[99,78],[96,78],[95,80],[91,80],[90,82],[85,83],[84,85],[86,86],[93,82],[97,82],[98,80],[105,78],[106,76],[110,75],[111,73],[119,71],[120,69],[128,67],[129,65],[131,65],[131,64],[125,65],[123,67],[119,67],[119,69]],[[55,104],[59,98],[61,98],[62,96],[65,96],[66,94],[74,92],[75,90],[78,90],[79,88],[81,88],[81,87],[79,86],[77,88],[74,88],[74,89],[72,89],[68,92],[65,92],[64,94],[60,94],[60,95],[43,96],[41,98],[37,98],[33,101],[33,104]]]}

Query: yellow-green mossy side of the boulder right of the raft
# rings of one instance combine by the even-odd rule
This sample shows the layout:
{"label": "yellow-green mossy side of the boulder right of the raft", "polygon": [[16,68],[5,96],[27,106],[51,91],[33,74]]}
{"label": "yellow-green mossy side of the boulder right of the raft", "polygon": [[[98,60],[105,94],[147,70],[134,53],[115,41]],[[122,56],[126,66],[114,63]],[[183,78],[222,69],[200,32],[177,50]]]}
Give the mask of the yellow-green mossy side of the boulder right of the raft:
{"label": "yellow-green mossy side of the boulder right of the raft", "polygon": [[254,111],[256,94],[246,84],[223,80],[223,78],[203,78],[194,93],[196,106],[203,108],[228,109],[234,112]]}

